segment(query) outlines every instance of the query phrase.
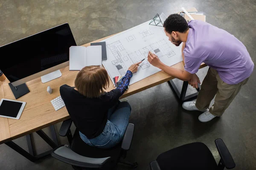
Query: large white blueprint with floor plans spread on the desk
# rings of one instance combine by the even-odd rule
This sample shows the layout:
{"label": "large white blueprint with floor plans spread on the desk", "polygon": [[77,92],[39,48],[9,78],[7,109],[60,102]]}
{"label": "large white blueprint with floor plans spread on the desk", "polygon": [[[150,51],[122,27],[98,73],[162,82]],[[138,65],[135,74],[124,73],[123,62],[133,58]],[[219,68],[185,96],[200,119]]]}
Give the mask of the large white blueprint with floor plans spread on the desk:
{"label": "large white blueprint with floor plans spread on the desk", "polygon": [[[166,16],[160,15],[162,22]],[[150,20],[151,21],[151,20]],[[181,46],[176,47],[168,40],[163,27],[140,24],[103,41],[106,42],[108,59],[102,61],[113,82],[113,77],[124,76],[130,65],[145,59],[133,74],[130,85],[161,71],[148,62],[148,51],[156,54],[166,65],[182,61]]]}

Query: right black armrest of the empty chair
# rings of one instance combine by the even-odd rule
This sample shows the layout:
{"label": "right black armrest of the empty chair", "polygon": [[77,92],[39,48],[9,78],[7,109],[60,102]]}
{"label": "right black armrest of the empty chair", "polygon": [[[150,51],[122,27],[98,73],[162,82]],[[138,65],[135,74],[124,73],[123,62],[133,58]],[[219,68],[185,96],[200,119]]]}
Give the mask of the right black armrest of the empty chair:
{"label": "right black armrest of the empty chair", "polygon": [[227,149],[226,144],[223,142],[222,139],[216,139],[215,140],[216,147],[218,149],[218,153],[221,156],[221,163],[227,168],[227,169],[233,169],[236,167],[236,164]]}

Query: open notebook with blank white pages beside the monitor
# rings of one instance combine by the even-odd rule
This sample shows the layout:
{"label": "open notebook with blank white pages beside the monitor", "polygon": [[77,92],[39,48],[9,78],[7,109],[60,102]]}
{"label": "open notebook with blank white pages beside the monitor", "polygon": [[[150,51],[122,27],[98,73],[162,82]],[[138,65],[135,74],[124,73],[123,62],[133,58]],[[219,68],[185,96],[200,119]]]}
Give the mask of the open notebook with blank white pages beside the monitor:
{"label": "open notebook with blank white pages beside the monitor", "polygon": [[102,46],[71,46],[70,71],[80,71],[85,66],[102,66]]}

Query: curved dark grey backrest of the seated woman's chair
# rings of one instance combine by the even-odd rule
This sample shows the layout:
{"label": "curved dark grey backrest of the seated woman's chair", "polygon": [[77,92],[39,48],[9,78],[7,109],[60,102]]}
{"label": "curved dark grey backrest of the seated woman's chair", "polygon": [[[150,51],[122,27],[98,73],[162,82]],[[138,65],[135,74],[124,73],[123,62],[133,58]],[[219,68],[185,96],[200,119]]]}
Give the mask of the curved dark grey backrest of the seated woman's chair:
{"label": "curved dark grey backrest of the seated woman's chair", "polygon": [[106,158],[89,158],[81,156],[71,150],[67,145],[61,145],[55,148],[51,155],[67,164],[75,165],[78,167],[88,168],[100,168],[102,167],[111,157]]}

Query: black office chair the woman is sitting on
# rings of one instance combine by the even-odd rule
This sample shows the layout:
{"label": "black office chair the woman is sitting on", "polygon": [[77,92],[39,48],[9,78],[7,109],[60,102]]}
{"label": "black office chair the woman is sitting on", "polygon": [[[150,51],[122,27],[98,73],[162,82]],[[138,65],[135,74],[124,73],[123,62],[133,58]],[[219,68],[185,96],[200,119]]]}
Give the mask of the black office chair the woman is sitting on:
{"label": "black office chair the woman is sitting on", "polygon": [[64,121],[59,131],[60,136],[67,136],[70,147],[68,145],[61,145],[55,148],[51,153],[54,158],[71,164],[75,170],[114,170],[118,162],[133,168],[138,166],[137,162],[123,161],[127,150],[131,146],[134,133],[133,124],[128,124],[122,142],[111,149],[100,149],[87,145],[80,138],[77,128],[72,136],[70,131],[71,124],[71,119]]}

